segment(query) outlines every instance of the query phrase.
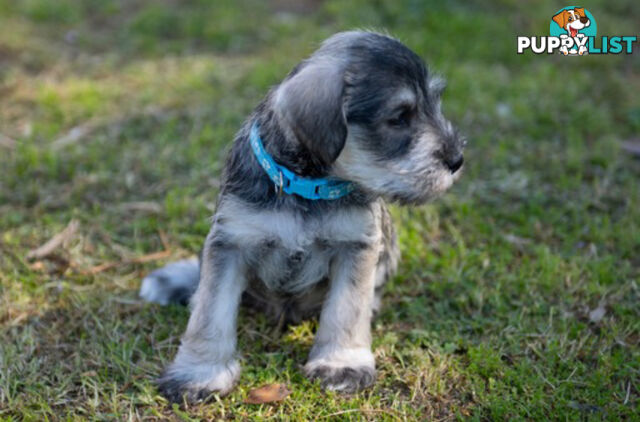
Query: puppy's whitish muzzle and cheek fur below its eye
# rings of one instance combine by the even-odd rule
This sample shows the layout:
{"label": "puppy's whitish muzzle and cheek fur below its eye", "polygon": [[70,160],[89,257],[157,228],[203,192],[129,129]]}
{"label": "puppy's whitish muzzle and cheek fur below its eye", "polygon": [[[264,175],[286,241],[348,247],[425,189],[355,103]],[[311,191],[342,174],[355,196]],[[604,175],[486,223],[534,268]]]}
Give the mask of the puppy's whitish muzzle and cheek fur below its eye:
{"label": "puppy's whitish muzzle and cheek fur below its eye", "polygon": [[421,135],[403,157],[380,159],[363,147],[365,134],[349,131],[333,175],[357,183],[364,189],[401,203],[424,203],[451,187],[459,172],[451,174],[437,157],[439,139],[431,132]]}

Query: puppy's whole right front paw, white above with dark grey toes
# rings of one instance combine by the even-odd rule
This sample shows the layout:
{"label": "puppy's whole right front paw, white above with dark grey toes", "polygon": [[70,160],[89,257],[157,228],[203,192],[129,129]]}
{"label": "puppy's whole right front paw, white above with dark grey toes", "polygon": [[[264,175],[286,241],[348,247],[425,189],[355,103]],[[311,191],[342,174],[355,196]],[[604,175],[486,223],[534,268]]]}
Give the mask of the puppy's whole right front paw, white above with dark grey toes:
{"label": "puppy's whole right front paw, white above with dark grey toes", "polygon": [[309,379],[318,379],[322,388],[354,393],[367,388],[376,379],[373,354],[367,349],[317,352],[304,367]]}

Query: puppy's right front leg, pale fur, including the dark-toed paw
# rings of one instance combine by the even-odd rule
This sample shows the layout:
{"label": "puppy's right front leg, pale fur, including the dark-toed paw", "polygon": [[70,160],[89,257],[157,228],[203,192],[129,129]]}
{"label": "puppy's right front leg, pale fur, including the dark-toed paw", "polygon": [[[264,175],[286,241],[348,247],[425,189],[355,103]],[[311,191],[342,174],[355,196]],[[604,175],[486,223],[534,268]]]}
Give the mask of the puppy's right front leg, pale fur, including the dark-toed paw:
{"label": "puppy's right front leg, pale fur, including the dark-toed paw", "polygon": [[331,288],[320,315],[320,326],[305,365],[311,379],[329,390],[355,392],[373,384],[371,316],[377,250],[373,247],[340,253],[332,266]]}

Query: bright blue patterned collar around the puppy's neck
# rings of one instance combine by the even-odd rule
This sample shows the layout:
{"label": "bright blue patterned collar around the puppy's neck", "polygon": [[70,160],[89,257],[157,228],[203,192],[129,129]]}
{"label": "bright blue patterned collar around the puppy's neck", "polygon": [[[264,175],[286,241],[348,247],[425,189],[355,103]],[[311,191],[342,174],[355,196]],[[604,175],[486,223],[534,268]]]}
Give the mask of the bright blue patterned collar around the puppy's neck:
{"label": "bright blue patterned collar around the puppy's neck", "polygon": [[276,190],[287,194],[295,194],[303,198],[317,199],[338,199],[348,195],[355,189],[355,184],[338,179],[307,179],[293,173],[288,168],[276,163],[267,153],[258,133],[258,124],[251,126],[251,149],[260,163],[260,166],[267,173],[269,178],[276,184]]}

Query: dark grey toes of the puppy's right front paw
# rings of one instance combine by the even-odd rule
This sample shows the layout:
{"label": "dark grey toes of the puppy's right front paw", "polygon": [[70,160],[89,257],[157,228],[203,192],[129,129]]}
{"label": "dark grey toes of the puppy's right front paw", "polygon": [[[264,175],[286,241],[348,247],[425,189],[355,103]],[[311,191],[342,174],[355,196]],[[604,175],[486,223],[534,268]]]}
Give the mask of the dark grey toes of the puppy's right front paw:
{"label": "dark grey toes of the puppy's right front paw", "polygon": [[355,393],[371,386],[376,379],[376,370],[369,366],[331,367],[317,366],[307,372],[312,380],[320,380],[325,390],[339,393]]}

